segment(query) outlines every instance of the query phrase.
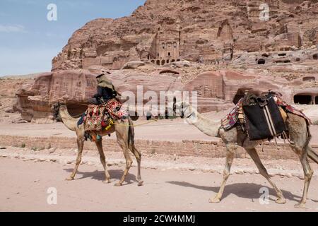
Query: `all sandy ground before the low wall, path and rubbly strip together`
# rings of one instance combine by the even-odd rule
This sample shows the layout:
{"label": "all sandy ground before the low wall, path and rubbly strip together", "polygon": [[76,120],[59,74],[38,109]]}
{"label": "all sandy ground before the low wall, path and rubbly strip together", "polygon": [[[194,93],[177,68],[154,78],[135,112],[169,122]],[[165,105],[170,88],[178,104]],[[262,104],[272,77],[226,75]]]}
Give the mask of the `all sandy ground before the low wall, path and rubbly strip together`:
{"label": "all sandy ground before the low wall, path and rubbly strip together", "polygon": [[[296,177],[302,174],[296,161],[264,161],[287,199],[285,205],[273,201],[273,189],[248,159],[235,160],[223,201],[208,203],[220,186],[224,159],[145,155],[144,185],[137,186],[134,163],[124,186],[115,187],[124,169],[121,155],[107,153],[112,182],[103,184],[97,153],[84,153],[76,179],[67,182],[64,179],[73,169],[74,150],[0,150],[0,211],[318,211],[317,165],[312,165],[316,173],[307,208],[300,210],[293,207],[303,186],[302,177]],[[47,203],[47,191],[52,187],[57,189],[57,205]],[[263,187],[269,189],[268,204],[259,202]]]}

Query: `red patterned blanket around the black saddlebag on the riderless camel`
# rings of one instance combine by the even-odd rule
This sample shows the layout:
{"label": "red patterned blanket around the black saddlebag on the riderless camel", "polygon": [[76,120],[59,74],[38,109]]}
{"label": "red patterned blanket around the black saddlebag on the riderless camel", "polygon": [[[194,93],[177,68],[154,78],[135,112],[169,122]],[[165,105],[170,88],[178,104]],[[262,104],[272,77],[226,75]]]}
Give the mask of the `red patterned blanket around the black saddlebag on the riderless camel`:
{"label": "red patterned blanket around the black saddlebag on the riderless camel", "polygon": [[[276,105],[278,106],[278,109],[281,111],[281,114],[283,116],[284,112],[296,114],[302,118],[304,118],[307,121],[307,124],[312,124],[310,119],[306,117],[306,115],[300,111],[299,109],[296,109],[295,107],[288,105],[287,102],[281,100],[281,97],[274,96],[273,100],[275,100]],[[230,113],[223,119],[221,119],[221,126],[225,130],[232,129],[235,124],[240,124],[242,126],[246,126],[245,122],[247,121],[245,115],[245,112],[243,111],[243,98],[237,102],[237,105],[230,111]],[[284,118],[284,117],[283,117]]]}

